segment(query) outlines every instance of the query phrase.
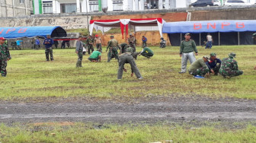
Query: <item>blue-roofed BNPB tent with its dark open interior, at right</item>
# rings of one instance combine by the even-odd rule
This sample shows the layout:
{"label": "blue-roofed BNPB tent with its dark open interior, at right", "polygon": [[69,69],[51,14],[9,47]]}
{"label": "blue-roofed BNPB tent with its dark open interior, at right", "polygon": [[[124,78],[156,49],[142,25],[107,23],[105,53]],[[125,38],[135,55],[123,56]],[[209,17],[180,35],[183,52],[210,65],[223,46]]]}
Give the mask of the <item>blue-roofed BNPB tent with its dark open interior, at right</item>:
{"label": "blue-roofed BNPB tent with its dark open interior, at right", "polygon": [[249,45],[254,41],[251,34],[256,31],[256,21],[183,21],[165,23],[163,33],[168,33],[172,46],[179,46],[184,33],[192,33],[197,45],[203,44],[206,34],[213,36],[214,45]]}

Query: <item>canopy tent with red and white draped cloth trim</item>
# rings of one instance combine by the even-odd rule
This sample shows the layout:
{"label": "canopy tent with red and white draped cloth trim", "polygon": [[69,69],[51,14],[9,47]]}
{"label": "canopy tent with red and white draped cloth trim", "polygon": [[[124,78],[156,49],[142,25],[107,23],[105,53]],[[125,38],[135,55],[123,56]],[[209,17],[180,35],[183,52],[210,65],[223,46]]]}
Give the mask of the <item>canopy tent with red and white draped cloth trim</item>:
{"label": "canopy tent with red and white draped cloth trim", "polygon": [[162,25],[165,21],[162,18],[146,18],[146,19],[114,19],[114,20],[91,20],[90,21],[90,35],[93,29],[101,30],[102,33],[107,32],[111,28],[120,27],[122,36],[124,28],[126,28],[126,36],[128,29],[131,28],[136,31],[142,30],[159,30],[162,37]]}

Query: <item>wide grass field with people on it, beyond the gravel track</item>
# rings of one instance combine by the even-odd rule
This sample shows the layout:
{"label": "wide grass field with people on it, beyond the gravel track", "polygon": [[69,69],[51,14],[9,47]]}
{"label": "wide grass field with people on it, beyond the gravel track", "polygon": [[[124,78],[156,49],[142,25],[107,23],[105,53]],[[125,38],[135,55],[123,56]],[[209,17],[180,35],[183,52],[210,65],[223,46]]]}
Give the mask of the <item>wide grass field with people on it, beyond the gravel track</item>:
{"label": "wide grass field with people on it, beyond the gravel track", "polygon": [[[143,79],[123,73],[117,81],[117,60],[107,63],[107,52],[102,53],[102,62],[89,62],[88,55],[82,61],[83,68],[75,68],[75,49],[54,49],[54,61],[46,62],[43,49],[11,50],[7,78],[1,78],[0,99],[12,100],[24,97],[147,97],[165,95],[194,95],[206,97],[238,97],[256,99],[256,46],[213,46],[213,49],[197,47],[199,56],[216,52],[225,58],[235,52],[238,67],[244,75],[226,79],[212,76],[195,79],[191,75],[178,74],[181,58],[178,47],[159,49],[152,59],[139,56],[136,64]],[[140,51],[141,48],[137,47]],[[105,49],[103,50],[105,51]],[[187,67],[188,68],[188,67]]]}

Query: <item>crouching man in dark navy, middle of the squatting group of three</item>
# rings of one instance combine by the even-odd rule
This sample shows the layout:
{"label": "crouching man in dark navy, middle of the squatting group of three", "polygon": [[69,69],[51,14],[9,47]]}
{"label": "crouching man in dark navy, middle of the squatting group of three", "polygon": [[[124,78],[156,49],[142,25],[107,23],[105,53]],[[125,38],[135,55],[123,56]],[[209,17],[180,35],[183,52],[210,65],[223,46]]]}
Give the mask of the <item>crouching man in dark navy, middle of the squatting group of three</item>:
{"label": "crouching man in dark navy, middle of the squatting group of three", "polygon": [[210,65],[210,71],[214,75],[218,75],[219,73],[219,68],[221,65],[221,60],[216,58],[216,53],[212,52],[210,53],[210,61],[208,62]]}

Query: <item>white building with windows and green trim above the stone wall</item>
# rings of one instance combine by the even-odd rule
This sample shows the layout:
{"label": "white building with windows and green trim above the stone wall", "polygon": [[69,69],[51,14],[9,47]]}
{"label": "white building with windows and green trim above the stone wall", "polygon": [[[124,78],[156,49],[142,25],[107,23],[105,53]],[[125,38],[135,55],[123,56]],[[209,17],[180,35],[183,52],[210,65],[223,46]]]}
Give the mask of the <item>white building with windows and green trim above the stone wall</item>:
{"label": "white building with windows and green trim above the stone wall", "polygon": [[186,8],[191,0],[34,0],[34,14]]}

